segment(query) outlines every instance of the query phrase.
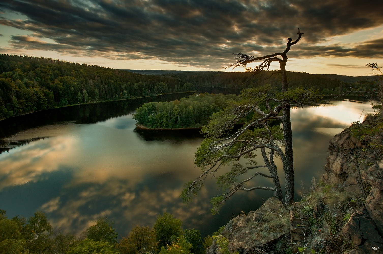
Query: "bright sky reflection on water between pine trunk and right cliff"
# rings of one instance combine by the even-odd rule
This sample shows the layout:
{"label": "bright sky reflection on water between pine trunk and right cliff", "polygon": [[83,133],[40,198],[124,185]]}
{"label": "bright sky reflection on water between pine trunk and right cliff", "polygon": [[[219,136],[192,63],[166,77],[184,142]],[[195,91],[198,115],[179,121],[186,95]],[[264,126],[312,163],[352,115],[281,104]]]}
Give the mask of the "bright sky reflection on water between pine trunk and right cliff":
{"label": "bright sky reflection on water between pine trunk and right cliff", "polygon": [[301,181],[307,188],[313,176],[324,173],[329,140],[368,113],[373,113],[370,102],[350,100],[291,110],[296,192],[302,191]]}

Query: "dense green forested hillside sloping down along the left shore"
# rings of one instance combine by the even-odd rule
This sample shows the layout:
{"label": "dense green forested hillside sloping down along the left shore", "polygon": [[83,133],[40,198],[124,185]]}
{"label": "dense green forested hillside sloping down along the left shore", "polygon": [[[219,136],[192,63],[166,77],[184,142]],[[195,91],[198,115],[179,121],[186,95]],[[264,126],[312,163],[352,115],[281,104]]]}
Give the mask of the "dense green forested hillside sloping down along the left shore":
{"label": "dense green forested hillside sloping down along the left shore", "polygon": [[0,54],[0,119],[89,101],[194,91],[173,77]]}

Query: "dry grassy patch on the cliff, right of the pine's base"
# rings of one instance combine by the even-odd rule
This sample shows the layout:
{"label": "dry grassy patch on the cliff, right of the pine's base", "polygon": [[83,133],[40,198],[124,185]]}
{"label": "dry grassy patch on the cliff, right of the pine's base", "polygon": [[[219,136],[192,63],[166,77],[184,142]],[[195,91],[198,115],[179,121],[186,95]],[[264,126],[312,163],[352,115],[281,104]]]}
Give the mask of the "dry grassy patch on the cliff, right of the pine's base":
{"label": "dry grassy patch on the cliff, right of the pine's base", "polygon": [[[352,243],[341,233],[342,226],[347,223],[351,214],[363,207],[365,194],[352,192],[319,181],[313,181],[311,191],[304,195],[299,204],[291,207],[296,218],[303,220],[301,227],[307,233],[304,244],[296,244],[301,253],[311,253],[311,241],[321,238],[319,253],[343,253],[350,249]],[[313,252],[316,253],[316,252]]]}

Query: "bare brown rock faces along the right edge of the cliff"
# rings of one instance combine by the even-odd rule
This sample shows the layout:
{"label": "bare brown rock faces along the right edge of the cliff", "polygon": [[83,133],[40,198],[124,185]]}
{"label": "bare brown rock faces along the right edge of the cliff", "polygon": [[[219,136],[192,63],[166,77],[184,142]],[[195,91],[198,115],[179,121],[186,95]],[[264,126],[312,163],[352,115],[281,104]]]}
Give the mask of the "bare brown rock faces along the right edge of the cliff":
{"label": "bare brown rock faces along the right edge of the cliff", "polygon": [[368,170],[358,168],[355,158],[365,156],[363,148],[363,141],[352,137],[350,130],[335,135],[330,140],[330,156],[322,175],[322,181],[339,191],[368,194],[365,207],[354,212],[342,227],[342,234],[355,244],[355,254],[376,253],[374,247],[383,247],[383,160],[375,160]]}

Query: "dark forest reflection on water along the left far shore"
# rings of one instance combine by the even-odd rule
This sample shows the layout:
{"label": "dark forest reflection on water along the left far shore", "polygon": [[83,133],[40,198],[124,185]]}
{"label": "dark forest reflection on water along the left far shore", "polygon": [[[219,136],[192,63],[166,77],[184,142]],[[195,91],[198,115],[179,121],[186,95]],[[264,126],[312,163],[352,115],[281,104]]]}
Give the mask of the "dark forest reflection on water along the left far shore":
{"label": "dark forest reflection on water along the left far shore", "polygon": [[7,137],[25,129],[55,122],[76,121],[77,124],[93,124],[112,117],[128,114],[144,103],[179,100],[189,94],[191,93],[164,94],[121,101],[104,101],[100,103],[59,107],[56,109],[37,111],[23,116],[11,117],[0,121],[0,138]]}

